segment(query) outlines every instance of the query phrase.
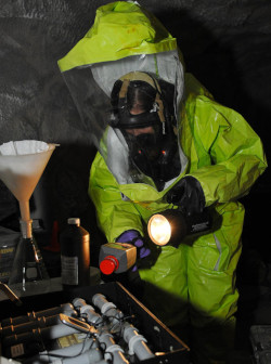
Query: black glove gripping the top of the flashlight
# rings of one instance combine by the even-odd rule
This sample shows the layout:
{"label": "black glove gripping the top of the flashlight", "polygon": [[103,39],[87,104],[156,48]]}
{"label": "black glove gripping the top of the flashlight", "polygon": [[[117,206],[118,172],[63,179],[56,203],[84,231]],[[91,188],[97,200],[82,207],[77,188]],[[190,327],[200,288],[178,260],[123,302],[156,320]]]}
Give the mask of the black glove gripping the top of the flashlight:
{"label": "black glove gripping the top of the flashlight", "polygon": [[181,179],[167,193],[167,202],[177,205],[188,216],[202,213],[205,196],[201,183],[191,176]]}

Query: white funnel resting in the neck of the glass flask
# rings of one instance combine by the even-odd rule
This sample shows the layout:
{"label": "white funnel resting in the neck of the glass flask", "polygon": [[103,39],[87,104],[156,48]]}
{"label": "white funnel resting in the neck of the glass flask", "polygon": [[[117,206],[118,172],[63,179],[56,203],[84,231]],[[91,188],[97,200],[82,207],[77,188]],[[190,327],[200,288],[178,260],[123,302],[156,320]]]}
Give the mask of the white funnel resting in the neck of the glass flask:
{"label": "white funnel resting in the neck of the glass flask", "polygon": [[30,221],[29,199],[55,146],[40,141],[0,145],[0,179],[18,200],[23,221]]}

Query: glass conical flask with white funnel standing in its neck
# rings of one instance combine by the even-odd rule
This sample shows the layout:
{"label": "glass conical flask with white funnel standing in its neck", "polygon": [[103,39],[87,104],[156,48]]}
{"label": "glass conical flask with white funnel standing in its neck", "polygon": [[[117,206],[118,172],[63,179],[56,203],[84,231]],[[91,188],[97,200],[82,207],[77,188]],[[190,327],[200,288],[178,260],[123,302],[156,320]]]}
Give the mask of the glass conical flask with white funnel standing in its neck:
{"label": "glass conical flask with white funnel standing in its neck", "polygon": [[55,148],[36,140],[3,143],[0,145],[0,179],[20,204],[22,238],[14,257],[9,285],[49,278],[37,243],[33,237],[29,199]]}

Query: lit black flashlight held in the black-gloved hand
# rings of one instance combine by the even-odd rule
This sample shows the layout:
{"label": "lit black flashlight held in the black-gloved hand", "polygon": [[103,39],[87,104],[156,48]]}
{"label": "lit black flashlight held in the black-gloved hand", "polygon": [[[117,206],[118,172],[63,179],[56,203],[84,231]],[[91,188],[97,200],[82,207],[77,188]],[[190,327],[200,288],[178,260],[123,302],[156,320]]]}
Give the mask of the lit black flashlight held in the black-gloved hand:
{"label": "lit black flashlight held in the black-gloved hand", "polygon": [[147,233],[156,245],[177,247],[186,235],[206,233],[210,227],[211,219],[208,209],[192,216],[185,216],[180,209],[170,209],[150,218]]}

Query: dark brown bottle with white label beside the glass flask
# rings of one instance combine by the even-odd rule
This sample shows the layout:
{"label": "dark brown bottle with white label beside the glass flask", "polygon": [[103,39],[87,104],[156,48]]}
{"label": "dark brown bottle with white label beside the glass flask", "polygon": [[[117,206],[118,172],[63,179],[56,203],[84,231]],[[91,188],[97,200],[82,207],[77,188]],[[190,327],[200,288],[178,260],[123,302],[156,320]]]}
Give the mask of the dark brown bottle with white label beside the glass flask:
{"label": "dark brown bottle with white label beside the glass flask", "polygon": [[90,284],[89,233],[80,226],[80,219],[69,218],[60,235],[61,274],[64,289]]}

